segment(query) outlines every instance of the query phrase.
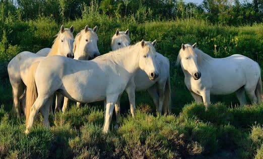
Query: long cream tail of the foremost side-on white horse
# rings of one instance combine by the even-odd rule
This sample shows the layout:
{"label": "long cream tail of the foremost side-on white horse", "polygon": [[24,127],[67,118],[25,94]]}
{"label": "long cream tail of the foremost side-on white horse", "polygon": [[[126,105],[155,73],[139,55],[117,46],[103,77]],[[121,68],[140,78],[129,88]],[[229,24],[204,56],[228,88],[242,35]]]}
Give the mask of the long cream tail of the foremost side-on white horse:
{"label": "long cream tail of the foremost side-on white horse", "polygon": [[37,69],[39,62],[35,62],[32,64],[32,66],[29,69],[28,73],[28,85],[26,89],[26,108],[25,108],[25,115],[26,115],[26,126],[29,120],[31,107],[36,101],[37,98],[37,87],[35,82],[35,72]]}

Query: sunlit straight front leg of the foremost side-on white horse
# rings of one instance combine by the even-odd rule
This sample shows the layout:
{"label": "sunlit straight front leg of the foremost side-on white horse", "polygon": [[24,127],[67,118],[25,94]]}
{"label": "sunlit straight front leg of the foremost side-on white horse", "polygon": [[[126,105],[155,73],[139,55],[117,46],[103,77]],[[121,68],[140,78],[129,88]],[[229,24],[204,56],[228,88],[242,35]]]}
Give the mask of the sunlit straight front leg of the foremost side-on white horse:
{"label": "sunlit straight front leg of the foremost side-on white horse", "polygon": [[107,104],[106,104],[106,111],[104,113],[105,114],[105,120],[104,120],[104,124],[103,124],[103,132],[104,133],[107,133],[109,131],[110,121],[112,118],[114,105],[115,105],[117,100],[118,100],[117,94],[107,95],[107,97],[106,97]]}

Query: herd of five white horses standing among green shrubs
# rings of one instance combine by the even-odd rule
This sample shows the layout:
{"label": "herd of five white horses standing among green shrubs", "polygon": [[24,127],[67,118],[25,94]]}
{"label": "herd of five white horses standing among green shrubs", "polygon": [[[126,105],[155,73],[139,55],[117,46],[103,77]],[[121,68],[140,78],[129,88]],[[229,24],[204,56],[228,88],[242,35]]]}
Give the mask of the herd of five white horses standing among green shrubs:
{"label": "herd of five white horses standing among green shrubs", "polygon": [[[112,51],[100,55],[97,29],[86,26],[74,39],[73,26],[62,25],[51,48],[36,54],[23,51],[8,65],[13,90],[13,110],[26,116],[28,134],[40,111],[49,128],[48,114],[56,95],[55,112],[67,110],[69,99],[80,103],[104,100],[103,132],[108,132],[115,108],[116,125],[120,122],[119,100],[128,94],[130,112],[135,114],[135,91],[147,90],[160,114],[171,111],[169,60],[156,52],[156,40],[130,45],[129,30],[117,30],[112,37]],[[93,59],[93,60],[89,60]],[[88,61],[89,60],[89,61]],[[193,45],[182,44],[177,64],[184,82],[196,102],[210,104],[210,94],[236,92],[240,105],[246,104],[245,91],[252,103],[262,100],[260,67],[253,60],[232,55],[215,59]]]}

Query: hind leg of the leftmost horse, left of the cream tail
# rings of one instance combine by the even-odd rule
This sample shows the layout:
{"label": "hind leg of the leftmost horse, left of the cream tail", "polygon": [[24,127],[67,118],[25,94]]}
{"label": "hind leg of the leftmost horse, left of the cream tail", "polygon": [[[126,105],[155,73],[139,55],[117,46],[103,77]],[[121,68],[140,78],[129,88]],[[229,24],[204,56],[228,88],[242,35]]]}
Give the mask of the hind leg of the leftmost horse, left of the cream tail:
{"label": "hind leg of the leftmost horse, left of the cream tail", "polygon": [[20,118],[20,102],[19,97],[23,94],[23,84],[22,83],[12,83],[13,89],[13,111]]}

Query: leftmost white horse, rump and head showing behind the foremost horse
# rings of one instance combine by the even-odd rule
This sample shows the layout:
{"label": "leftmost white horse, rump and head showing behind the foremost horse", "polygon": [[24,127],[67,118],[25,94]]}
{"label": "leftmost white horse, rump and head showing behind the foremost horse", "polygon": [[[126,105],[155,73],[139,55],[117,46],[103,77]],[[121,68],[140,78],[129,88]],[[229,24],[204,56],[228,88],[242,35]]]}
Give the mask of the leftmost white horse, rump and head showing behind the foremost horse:
{"label": "leftmost white horse, rump and head showing behind the foremost horse", "polygon": [[[62,25],[48,56],[60,55],[64,57],[73,57],[73,31],[73,26],[70,29],[67,29]],[[22,96],[24,89],[28,84],[28,69],[32,63],[42,59],[43,57],[32,52],[23,51],[14,57],[8,64],[8,74],[13,90],[13,110],[16,110],[18,118],[20,117],[19,98]]]}

